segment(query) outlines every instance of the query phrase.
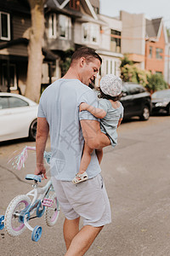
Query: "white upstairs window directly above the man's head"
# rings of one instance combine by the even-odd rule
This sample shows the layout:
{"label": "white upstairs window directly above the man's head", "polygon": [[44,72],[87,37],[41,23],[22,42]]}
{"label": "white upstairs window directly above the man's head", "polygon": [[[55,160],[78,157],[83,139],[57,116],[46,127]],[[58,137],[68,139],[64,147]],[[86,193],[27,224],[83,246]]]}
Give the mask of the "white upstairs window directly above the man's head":
{"label": "white upstairs window directly above the man's head", "polygon": [[99,26],[96,24],[82,24],[82,43],[98,44],[99,42]]}

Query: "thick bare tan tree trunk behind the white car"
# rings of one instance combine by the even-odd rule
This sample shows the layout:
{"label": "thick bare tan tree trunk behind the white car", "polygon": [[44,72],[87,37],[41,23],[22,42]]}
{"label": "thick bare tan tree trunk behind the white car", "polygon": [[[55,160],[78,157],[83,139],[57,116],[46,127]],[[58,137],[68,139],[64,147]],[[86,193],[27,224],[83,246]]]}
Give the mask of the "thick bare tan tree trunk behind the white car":
{"label": "thick bare tan tree trunk behind the white car", "polygon": [[43,7],[47,0],[28,0],[31,8],[31,29],[28,44],[26,96],[39,101],[42,81],[42,38],[44,34]]}

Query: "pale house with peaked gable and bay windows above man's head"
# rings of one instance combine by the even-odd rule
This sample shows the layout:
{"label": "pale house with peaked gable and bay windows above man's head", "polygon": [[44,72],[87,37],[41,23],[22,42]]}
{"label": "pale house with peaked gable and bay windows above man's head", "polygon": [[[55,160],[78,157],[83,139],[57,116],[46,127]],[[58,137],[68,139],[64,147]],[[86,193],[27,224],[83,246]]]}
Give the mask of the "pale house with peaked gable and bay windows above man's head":
{"label": "pale house with peaked gable and bay windows above man's head", "polygon": [[[88,0],[48,0],[45,6],[44,46],[58,56],[52,82],[59,79],[59,62],[63,53],[81,46],[99,49],[100,21]],[[43,65],[44,80],[48,82],[48,67]],[[44,81],[42,81],[44,82]]]}

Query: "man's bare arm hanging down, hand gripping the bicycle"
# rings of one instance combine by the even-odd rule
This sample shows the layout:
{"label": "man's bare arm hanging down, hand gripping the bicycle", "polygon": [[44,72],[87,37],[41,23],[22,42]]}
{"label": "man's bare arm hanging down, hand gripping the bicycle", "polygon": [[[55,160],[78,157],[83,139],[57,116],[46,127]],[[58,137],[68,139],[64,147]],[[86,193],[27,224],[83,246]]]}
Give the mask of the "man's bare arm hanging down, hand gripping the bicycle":
{"label": "man's bare arm hanging down, hand gripping the bicycle", "polygon": [[48,139],[49,126],[45,118],[37,118],[37,136],[36,136],[36,153],[37,153],[37,168],[35,174],[43,174],[45,178],[46,170],[43,165],[43,153]]}

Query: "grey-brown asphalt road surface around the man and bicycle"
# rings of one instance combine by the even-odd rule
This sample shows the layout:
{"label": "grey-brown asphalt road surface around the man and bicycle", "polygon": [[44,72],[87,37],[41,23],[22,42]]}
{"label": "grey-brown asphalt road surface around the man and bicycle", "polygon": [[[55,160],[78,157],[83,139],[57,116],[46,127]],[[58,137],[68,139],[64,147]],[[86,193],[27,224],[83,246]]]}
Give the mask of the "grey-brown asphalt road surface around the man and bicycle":
{"label": "grey-brown asphalt road surface around the man and bicycle", "polygon": [[[105,226],[86,255],[170,256],[170,117],[123,123],[118,135],[118,145],[105,148],[102,160],[112,224]],[[31,190],[25,176],[34,172],[35,154],[29,154],[21,171],[8,164],[14,151],[25,145],[35,143],[0,143],[0,214],[15,195]],[[62,212],[53,228],[48,228],[43,217],[33,220],[33,226],[42,226],[38,242],[31,241],[30,230],[17,237],[0,230],[0,255],[64,255],[63,221]]]}

